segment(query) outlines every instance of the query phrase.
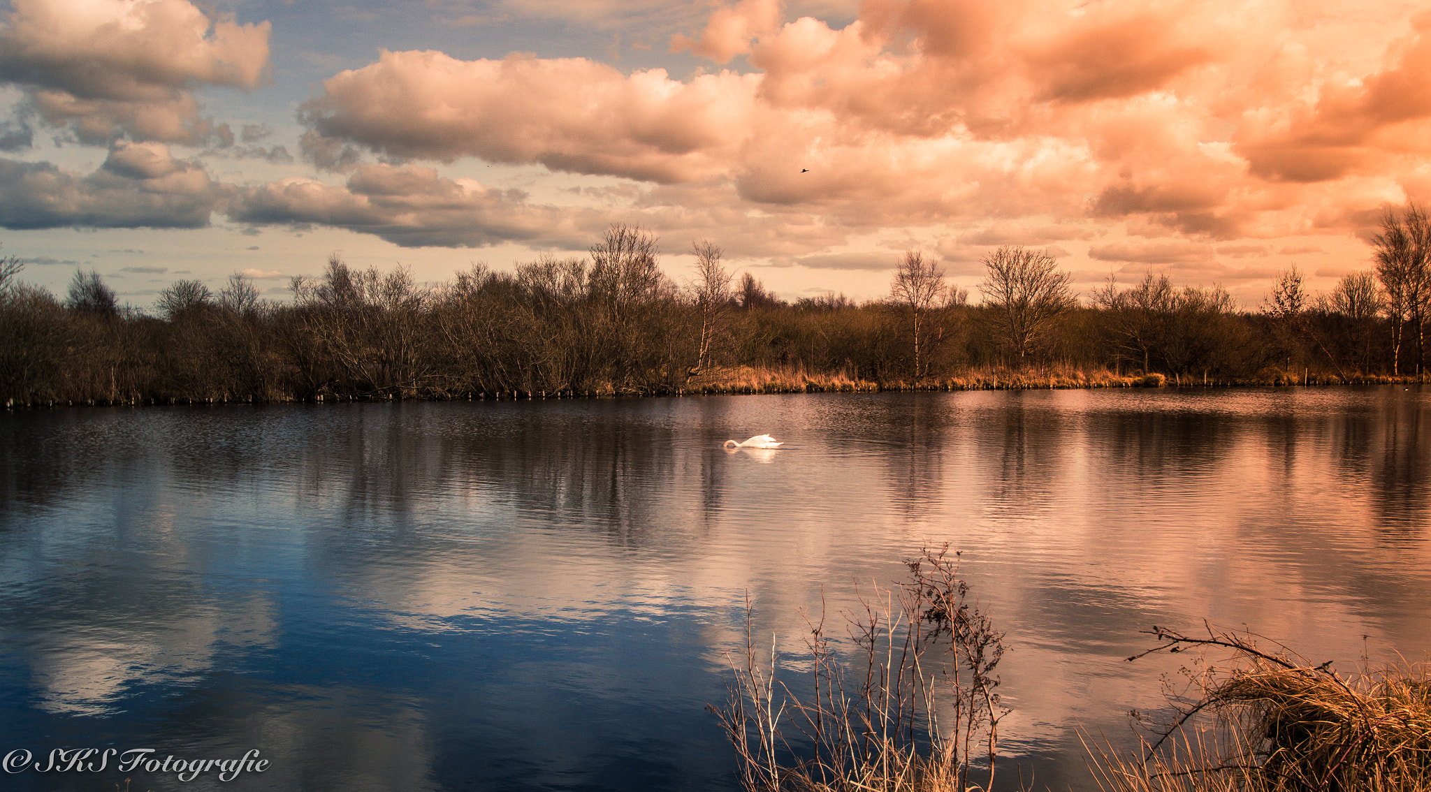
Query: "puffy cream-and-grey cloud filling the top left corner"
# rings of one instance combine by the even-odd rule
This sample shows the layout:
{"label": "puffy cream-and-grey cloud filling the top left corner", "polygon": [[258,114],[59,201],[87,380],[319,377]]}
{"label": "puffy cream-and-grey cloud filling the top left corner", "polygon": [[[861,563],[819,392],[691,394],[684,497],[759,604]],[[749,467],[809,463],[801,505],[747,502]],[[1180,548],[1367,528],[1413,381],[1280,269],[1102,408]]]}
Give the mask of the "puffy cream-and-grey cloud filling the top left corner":
{"label": "puffy cream-and-grey cloud filling the top left corner", "polygon": [[120,134],[203,142],[226,130],[200,116],[193,89],[253,89],[268,69],[269,23],[210,19],[187,0],[10,6],[0,26],[0,81],[19,86],[41,122],[84,143]]}

